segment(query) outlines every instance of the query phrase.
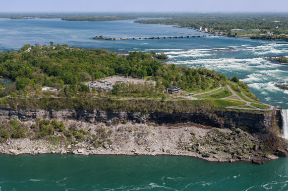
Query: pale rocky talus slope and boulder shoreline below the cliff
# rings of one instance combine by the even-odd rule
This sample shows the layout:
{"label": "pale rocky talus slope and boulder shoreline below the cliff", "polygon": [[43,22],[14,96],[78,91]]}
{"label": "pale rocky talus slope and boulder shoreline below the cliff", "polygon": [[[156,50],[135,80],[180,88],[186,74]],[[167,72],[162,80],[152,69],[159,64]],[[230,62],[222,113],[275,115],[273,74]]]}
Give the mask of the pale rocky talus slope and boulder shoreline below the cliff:
{"label": "pale rocky talus slope and boulder shoreline below the cliff", "polygon": [[[32,121],[25,122],[27,125]],[[192,156],[214,162],[237,162],[263,164],[266,161],[287,156],[288,148],[275,145],[275,152],[268,151],[274,142],[268,135],[249,134],[239,128],[231,130],[214,128],[194,123],[181,124],[91,124],[77,120],[65,123],[89,131],[89,136],[99,135],[99,129],[106,132],[105,141],[91,143],[71,141],[47,136],[44,139],[8,139],[0,143],[0,153],[19,154],[79,154],[79,155],[177,155]],[[109,132],[109,133],[108,133]],[[87,135],[88,136],[88,135]],[[275,137],[273,137],[275,138]],[[268,148],[269,147],[269,148]],[[279,148],[280,147],[280,148]],[[276,156],[277,155],[277,156]]]}

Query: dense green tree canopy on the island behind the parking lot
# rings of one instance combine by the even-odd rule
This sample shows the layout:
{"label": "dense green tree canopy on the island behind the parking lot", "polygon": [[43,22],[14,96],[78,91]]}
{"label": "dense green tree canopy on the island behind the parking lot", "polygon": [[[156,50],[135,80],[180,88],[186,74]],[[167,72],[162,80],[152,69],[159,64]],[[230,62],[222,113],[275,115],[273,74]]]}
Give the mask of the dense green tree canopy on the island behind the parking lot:
{"label": "dense green tree canopy on the island behind the parking lot", "polygon": [[[19,51],[0,55],[0,76],[15,80],[15,87],[2,89],[0,96],[15,91],[31,92],[42,86],[77,92],[77,86],[85,81],[93,81],[111,75],[143,78],[150,76],[158,86],[180,85],[183,89],[207,88],[216,80],[226,80],[226,76],[207,68],[190,68],[166,64],[155,59],[155,52],[130,52],[118,55],[103,49],[79,49],[68,45],[23,46]],[[28,48],[31,50],[28,52]],[[65,86],[70,84],[70,86]],[[65,89],[65,88],[64,88]],[[74,90],[72,90],[74,89]],[[68,91],[68,90],[67,90]]]}

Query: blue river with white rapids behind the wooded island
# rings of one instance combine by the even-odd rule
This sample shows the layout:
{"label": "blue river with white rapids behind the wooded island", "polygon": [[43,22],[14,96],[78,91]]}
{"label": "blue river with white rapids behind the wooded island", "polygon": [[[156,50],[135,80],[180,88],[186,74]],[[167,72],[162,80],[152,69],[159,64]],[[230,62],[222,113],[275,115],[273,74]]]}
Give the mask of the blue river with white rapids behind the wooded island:
{"label": "blue river with white rapids behind the wooded island", "polygon": [[93,40],[91,37],[150,37],[199,35],[193,29],[169,25],[136,24],[134,20],[73,22],[60,19],[0,20],[0,50],[17,50],[24,44],[68,44],[80,48],[105,48],[115,52],[164,51],[167,62],[192,67],[205,66],[226,76],[237,75],[265,103],[288,109],[288,65],[263,59],[287,56],[288,44],[234,37],[185,39]]}

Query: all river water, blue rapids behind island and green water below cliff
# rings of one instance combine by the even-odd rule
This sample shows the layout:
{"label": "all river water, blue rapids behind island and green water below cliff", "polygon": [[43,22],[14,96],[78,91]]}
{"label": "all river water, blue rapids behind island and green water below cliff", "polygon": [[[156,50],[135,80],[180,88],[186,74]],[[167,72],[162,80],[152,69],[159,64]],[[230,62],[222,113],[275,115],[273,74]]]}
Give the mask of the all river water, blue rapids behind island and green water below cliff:
{"label": "all river water, blue rapids behind island and green water below cliff", "polygon": [[[0,50],[24,44],[68,44],[109,51],[163,51],[167,62],[205,66],[237,75],[265,103],[288,109],[288,65],[263,59],[287,56],[288,44],[232,37],[93,40],[91,37],[202,35],[168,25],[134,20],[72,22],[60,19],[0,20]],[[0,155],[0,190],[287,190],[288,159],[264,165],[210,163],[176,156]]]}

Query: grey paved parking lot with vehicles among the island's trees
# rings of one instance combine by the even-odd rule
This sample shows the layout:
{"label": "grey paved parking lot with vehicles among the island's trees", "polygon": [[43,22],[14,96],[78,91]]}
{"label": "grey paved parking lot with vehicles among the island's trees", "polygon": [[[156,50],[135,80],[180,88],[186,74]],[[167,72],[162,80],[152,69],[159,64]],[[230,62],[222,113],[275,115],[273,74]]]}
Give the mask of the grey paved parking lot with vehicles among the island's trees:
{"label": "grey paved parking lot with vehicles among the island's trees", "polygon": [[153,83],[154,85],[156,84],[155,81],[151,81],[151,80],[145,80],[145,79],[137,79],[137,78],[130,78],[130,77],[125,77],[125,76],[110,76],[110,77],[106,77],[106,78],[102,78],[99,80],[95,80],[95,81],[90,81],[85,83],[86,85],[88,85],[88,87],[90,88],[90,90],[95,87],[96,89],[112,89],[113,85],[116,83],[127,83],[127,82],[134,82],[134,83],[144,83],[144,82],[150,82]]}

